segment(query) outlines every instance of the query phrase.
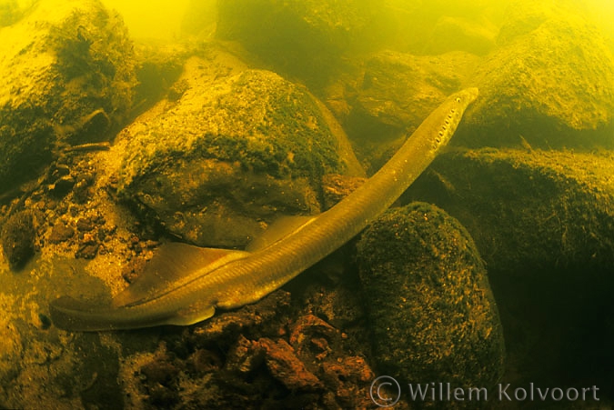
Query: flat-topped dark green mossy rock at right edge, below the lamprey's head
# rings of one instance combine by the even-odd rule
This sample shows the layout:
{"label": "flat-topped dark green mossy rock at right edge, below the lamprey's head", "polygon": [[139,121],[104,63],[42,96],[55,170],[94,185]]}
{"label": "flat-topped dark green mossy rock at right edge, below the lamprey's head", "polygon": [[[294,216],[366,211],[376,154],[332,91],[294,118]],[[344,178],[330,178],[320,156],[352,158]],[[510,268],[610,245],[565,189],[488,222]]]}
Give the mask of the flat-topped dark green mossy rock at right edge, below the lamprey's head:
{"label": "flat-topped dark green mossy rock at right edge, below the lamprey's head", "polygon": [[614,155],[481,149],[442,155],[408,194],[468,228],[489,269],[614,264]]}

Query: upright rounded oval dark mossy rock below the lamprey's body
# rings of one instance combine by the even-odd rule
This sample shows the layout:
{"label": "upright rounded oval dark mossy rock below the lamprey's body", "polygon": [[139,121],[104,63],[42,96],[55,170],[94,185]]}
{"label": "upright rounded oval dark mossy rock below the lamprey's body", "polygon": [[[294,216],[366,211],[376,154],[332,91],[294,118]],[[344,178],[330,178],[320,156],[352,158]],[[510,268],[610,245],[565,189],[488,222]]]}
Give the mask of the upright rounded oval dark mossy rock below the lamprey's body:
{"label": "upright rounded oval dark mossy rock below the lamprey's body", "polygon": [[404,380],[489,386],[503,373],[498,309],[465,228],[436,206],[390,210],[357,244],[374,353]]}

